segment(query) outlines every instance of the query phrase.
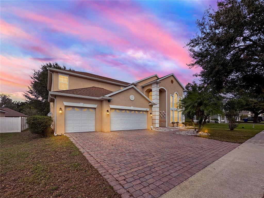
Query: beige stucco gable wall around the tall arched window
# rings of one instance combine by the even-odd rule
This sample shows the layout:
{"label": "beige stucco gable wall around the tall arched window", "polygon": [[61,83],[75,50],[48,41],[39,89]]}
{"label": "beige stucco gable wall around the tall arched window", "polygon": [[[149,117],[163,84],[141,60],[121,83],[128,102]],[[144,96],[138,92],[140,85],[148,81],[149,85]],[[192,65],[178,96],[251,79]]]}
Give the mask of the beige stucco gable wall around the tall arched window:
{"label": "beige stucco gable wall around the tall arched window", "polygon": [[[171,83],[171,80],[173,80],[173,84]],[[175,92],[177,92],[179,97],[182,97],[183,88],[173,76],[164,78],[160,82],[161,83],[159,84],[159,87],[164,87],[167,90],[167,126],[172,126],[170,123],[170,95],[173,95]],[[159,103],[159,106],[162,106],[161,102]]]}

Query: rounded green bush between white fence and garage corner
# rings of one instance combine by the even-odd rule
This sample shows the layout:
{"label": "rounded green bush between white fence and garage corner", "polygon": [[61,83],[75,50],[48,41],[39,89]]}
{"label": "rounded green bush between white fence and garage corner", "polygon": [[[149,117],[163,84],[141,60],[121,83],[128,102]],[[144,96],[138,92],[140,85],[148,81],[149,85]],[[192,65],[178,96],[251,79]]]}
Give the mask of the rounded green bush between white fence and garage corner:
{"label": "rounded green bush between white fence and garage corner", "polygon": [[53,133],[51,128],[52,121],[49,116],[30,116],[27,118],[31,133],[39,134],[42,137],[48,137]]}

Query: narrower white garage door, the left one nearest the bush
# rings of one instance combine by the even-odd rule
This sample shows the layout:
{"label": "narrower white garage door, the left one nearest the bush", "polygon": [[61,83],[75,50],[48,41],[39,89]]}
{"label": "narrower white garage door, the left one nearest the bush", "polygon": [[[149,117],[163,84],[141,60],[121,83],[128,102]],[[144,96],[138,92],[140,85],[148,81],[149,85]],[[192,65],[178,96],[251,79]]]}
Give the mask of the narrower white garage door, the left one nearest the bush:
{"label": "narrower white garage door, the left one nearest the bush", "polygon": [[65,106],[65,133],[95,131],[95,108]]}

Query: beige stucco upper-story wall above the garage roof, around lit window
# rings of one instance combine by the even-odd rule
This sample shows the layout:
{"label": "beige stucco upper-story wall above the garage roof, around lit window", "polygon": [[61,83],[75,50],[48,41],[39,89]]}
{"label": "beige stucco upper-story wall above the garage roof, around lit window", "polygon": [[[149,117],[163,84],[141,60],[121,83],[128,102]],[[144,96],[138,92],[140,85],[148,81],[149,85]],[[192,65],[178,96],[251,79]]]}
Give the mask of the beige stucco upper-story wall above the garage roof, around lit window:
{"label": "beige stucco upper-story wall above the garage roof, around lit window", "polygon": [[[121,89],[121,86],[119,85],[95,81],[77,76],[69,76],[69,89],[79,89],[85,87],[101,87],[110,91],[117,91]],[[53,73],[53,91],[60,91],[58,72]]]}

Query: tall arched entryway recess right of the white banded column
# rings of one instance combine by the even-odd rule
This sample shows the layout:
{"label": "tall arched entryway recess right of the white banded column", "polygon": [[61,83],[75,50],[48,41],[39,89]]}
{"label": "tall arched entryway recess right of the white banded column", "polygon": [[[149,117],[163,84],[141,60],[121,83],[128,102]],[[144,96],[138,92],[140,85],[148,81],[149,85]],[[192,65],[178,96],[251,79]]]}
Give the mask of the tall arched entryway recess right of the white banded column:
{"label": "tall arched entryway recess right of the white banded column", "polygon": [[167,126],[167,90],[159,88],[159,126]]}

